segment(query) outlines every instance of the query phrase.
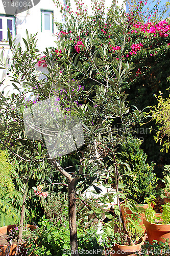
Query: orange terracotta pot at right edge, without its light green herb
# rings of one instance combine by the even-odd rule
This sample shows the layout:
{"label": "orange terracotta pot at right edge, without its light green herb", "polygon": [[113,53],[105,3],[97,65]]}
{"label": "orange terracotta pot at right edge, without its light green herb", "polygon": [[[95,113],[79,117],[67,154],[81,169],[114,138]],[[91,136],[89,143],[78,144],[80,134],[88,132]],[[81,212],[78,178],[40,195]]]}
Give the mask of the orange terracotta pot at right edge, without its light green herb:
{"label": "orange terracotta pot at right edge, without its light green herb", "polygon": [[[162,214],[156,214],[156,216],[161,216]],[[169,239],[170,246],[170,224],[151,224],[150,222],[144,221],[144,226],[147,228],[148,240],[152,244],[153,240],[165,242],[165,239]]]}

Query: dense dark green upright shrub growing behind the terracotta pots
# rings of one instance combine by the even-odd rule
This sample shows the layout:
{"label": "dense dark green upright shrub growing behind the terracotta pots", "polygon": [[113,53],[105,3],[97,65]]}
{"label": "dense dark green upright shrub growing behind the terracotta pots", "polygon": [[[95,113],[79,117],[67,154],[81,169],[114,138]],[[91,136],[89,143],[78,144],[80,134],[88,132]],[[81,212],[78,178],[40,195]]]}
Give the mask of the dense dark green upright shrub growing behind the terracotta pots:
{"label": "dense dark green upright shrub growing behind the terracotta pots", "polygon": [[157,185],[156,174],[153,173],[154,163],[152,162],[151,165],[145,163],[147,155],[143,153],[140,145],[141,141],[131,136],[122,143],[118,154],[118,159],[121,161],[119,164],[121,180],[126,185],[128,197],[137,203],[142,203],[149,195],[155,195]]}

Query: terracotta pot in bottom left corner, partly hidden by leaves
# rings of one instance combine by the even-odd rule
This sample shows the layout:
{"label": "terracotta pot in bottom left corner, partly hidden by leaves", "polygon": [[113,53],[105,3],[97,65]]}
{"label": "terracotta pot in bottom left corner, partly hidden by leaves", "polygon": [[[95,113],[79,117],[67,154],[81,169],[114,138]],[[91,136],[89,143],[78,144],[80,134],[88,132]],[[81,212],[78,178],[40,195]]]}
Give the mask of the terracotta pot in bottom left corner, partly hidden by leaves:
{"label": "terracotta pot in bottom left corner, partly hidden by leaves", "polygon": [[[2,234],[6,234],[6,233],[10,232],[15,227],[16,227],[16,225],[8,225],[8,226],[0,227],[0,237],[1,237]],[[31,230],[36,229],[36,226],[33,226],[33,225],[27,225],[27,227],[30,228]],[[5,256],[6,255],[7,246],[8,245],[1,245],[0,244],[0,256]],[[18,253],[17,256],[25,256],[26,255],[27,250],[23,249],[23,247],[25,247],[25,246],[26,246],[25,243],[20,244],[20,247],[21,247],[20,251],[21,252]],[[15,255],[16,249],[17,249],[17,244],[11,245],[9,256]],[[31,256],[31,255],[32,255],[32,253],[29,256]]]}

